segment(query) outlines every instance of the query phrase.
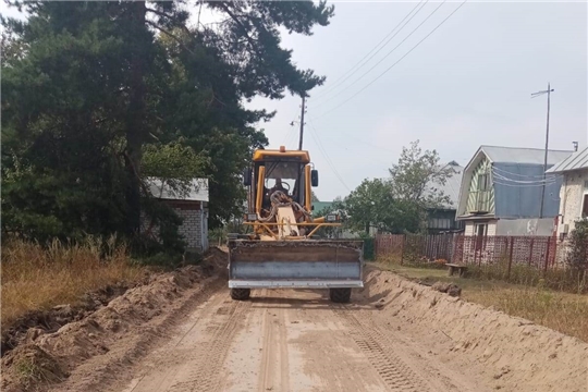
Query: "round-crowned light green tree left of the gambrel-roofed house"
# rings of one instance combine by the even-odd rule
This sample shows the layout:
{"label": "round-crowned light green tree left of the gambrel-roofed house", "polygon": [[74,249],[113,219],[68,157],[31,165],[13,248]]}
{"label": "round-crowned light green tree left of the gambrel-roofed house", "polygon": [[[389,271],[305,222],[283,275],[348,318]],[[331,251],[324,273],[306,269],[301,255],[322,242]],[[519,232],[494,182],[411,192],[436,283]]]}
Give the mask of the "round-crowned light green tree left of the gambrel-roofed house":
{"label": "round-crowned light green tree left of the gambrel-roofed house", "polygon": [[418,144],[416,140],[409,148],[403,147],[399,162],[390,169],[393,195],[421,208],[450,204],[449,197],[438,186],[445,185],[453,175],[453,169],[441,167],[439,154],[436,150],[422,151]]}

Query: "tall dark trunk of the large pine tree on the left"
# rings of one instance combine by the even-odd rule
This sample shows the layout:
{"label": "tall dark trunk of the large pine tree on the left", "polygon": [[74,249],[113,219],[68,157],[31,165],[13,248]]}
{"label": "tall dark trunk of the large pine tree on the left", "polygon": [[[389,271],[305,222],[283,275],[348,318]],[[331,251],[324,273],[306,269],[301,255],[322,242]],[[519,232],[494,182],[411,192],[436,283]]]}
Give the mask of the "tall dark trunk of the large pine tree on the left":
{"label": "tall dark trunk of the large pine tree on the left", "polygon": [[128,177],[126,188],[126,204],[128,208],[127,234],[138,234],[140,228],[140,159],[142,147],[145,140],[145,51],[149,45],[144,38],[147,36],[146,8],[144,1],[131,4],[131,30],[134,33],[134,51],[131,54],[131,94],[128,106],[128,120],[126,127],[126,156],[125,169]]}

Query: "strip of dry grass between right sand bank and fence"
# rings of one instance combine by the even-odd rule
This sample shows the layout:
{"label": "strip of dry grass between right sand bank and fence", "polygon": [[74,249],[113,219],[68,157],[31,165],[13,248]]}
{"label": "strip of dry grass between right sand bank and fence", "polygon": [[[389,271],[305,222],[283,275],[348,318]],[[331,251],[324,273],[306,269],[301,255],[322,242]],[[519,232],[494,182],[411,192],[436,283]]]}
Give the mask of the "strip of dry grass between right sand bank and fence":
{"label": "strip of dry grass between right sand bank and fence", "polygon": [[523,317],[571,336],[588,342],[588,295],[495,280],[448,277],[444,269],[375,264],[409,279],[427,282],[451,282],[462,287],[462,298]]}

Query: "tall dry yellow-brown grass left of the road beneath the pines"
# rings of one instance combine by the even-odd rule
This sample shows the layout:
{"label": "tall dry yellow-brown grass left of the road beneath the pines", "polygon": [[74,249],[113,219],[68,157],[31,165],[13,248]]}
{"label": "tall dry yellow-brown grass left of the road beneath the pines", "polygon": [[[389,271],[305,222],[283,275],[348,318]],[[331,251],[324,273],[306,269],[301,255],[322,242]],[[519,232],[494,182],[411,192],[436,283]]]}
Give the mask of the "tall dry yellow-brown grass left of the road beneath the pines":
{"label": "tall dry yellow-brown grass left of the road beneath the pines", "polygon": [[2,244],[1,264],[2,328],[30,310],[75,304],[84,293],[143,273],[113,237],[78,244],[56,240],[48,246],[13,240]]}

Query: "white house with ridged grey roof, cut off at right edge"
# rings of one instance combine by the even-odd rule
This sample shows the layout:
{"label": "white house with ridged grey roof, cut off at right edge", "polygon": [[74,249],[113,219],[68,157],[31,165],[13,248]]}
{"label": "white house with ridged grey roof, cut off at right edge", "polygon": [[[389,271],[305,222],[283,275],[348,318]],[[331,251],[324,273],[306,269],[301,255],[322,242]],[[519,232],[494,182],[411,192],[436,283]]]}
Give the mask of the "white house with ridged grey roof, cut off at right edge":
{"label": "white house with ridged grey roof, cut off at right edge", "polygon": [[547,173],[563,175],[558,235],[564,240],[577,220],[588,218],[588,147],[556,163]]}

